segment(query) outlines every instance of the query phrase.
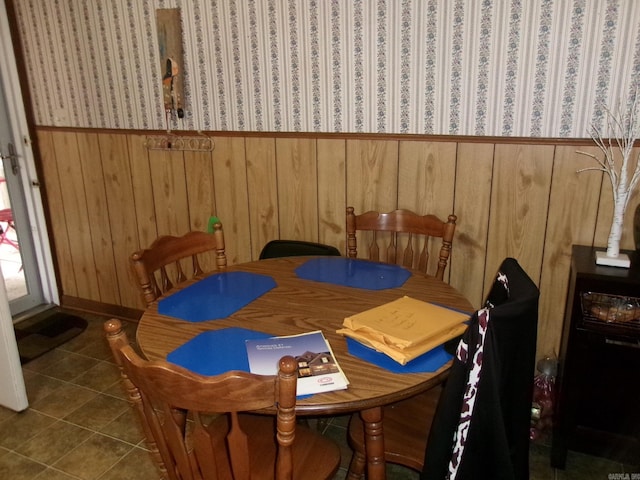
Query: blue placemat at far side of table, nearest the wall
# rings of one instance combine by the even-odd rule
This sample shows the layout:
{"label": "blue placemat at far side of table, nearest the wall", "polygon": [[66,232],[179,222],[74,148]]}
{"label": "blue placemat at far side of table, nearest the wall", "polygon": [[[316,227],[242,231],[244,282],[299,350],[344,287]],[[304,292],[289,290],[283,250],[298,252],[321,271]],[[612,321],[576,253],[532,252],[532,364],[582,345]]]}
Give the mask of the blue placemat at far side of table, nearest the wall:
{"label": "blue placemat at far side of table, nearest the wall", "polygon": [[305,280],[366,290],[397,288],[411,276],[409,270],[399,265],[345,257],[312,258],[295,271]]}

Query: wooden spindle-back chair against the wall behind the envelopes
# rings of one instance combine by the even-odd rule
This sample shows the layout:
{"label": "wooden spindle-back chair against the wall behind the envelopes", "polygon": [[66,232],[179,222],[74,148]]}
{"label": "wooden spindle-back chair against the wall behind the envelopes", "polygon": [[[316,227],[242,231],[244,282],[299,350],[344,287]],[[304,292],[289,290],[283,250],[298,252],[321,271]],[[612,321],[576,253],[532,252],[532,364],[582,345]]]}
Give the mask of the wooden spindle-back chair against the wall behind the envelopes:
{"label": "wooden spindle-back chair against the wall behind the envelopes", "polygon": [[418,215],[410,210],[369,211],[356,215],[353,207],[347,207],[347,255],[358,256],[356,232],[369,231],[370,260],[404,265],[428,273],[431,239],[441,238],[438,264],[433,275],[442,280],[451,253],[456,220],[455,215],[449,215],[443,222],[435,215]]}

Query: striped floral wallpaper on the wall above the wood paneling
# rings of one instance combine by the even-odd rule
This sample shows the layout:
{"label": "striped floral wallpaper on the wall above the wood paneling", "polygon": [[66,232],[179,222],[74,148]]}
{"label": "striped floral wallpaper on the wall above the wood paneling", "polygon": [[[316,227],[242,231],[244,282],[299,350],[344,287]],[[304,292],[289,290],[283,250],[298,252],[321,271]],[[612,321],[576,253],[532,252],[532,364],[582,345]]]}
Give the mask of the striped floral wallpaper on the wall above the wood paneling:
{"label": "striped floral wallpaper on the wall above the wood paneling", "polygon": [[[640,78],[637,0],[13,0],[38,125],[586,137]],[[156,10],[179,8],[183,118]]]}

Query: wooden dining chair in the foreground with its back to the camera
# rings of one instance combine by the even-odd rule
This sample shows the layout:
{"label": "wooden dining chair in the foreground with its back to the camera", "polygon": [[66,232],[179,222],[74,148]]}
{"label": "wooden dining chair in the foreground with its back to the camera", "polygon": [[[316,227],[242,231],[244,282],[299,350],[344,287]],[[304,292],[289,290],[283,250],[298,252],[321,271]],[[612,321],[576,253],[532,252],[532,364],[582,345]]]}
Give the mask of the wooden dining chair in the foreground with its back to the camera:
{"label": "wooden dining chair in the foreground with its back to the camera", "polygon": [[[293,357],[280,360],[276,376],[231,371],[206,377],[143,360],[119,320],[108,320],[104,330],[163,478],[333,478],[338,445],[296,424]],[[275,418],[245,413],[264,409],[275,410]]]}

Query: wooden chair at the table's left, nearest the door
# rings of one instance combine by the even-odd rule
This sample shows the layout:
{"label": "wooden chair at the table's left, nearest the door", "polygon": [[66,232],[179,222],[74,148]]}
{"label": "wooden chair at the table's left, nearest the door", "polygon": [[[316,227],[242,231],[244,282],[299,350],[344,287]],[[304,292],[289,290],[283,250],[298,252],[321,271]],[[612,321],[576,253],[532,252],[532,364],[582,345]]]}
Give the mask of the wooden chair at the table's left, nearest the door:
{"label": "wooden chair at the table's left, nearest the door", "polygon": [[148,248],[133,253],[131,267],[147,306],[175,285],[204,273],[201,265],[205,262],[199,257],[208,252],[215,255],[215,268],[224,270],[227,256],[221,223],[213,225],[213,233],[158,237]]}

